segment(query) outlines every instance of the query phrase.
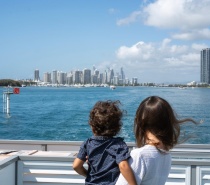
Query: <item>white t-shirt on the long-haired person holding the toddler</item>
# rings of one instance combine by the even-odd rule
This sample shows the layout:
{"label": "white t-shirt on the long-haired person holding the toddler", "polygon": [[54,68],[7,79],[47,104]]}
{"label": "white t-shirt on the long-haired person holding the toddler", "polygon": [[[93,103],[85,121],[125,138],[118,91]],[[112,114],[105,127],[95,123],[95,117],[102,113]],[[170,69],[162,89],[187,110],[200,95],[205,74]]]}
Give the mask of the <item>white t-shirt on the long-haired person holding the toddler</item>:
{"label": "white t-shirt on the long-haired person holding the toddler", "polygon": [[[161,151],[152,145],[145,145],[131,151],[129,164],[138,185],[165,184],[171,169],[171,155],[169,152]],[[116,185],[128,185],[122,174]]]}

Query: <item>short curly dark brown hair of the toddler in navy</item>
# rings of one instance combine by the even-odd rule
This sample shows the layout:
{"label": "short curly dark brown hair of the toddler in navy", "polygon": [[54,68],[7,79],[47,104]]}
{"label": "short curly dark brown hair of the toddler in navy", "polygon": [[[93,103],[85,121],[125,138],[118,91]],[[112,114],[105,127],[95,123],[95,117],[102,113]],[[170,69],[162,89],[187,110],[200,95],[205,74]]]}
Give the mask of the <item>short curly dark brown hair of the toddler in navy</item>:
{"label": "short curly dark brown hair of the toddler in navy", "polygon": [[89,125],[97,136],[115,136],[122,127],[120,101],[98,101],[89,115]]}

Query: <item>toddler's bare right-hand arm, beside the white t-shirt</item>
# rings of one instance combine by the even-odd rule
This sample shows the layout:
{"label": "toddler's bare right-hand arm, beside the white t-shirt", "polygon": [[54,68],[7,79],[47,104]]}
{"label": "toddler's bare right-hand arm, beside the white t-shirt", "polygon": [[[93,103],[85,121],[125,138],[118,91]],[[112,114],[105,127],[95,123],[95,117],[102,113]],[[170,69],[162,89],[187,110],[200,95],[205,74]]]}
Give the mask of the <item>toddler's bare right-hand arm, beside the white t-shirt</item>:
{"label": "toddler's bare right-hand arm, beside the white t-shirt", "polygon": [[135,176],[127,160],[121,161],[119,163],[119,168],[121,174],[127,180],[129,185],[137,185]]}

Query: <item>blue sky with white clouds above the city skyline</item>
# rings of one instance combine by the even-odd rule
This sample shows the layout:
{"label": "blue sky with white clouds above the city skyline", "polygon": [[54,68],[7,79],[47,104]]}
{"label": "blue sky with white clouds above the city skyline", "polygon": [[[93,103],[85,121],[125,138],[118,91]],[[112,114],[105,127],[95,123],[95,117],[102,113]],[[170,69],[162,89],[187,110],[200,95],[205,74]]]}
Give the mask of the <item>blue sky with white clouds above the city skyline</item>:
{"label": "blue sky with white clouds above the city skyline", "polygon": [[0,79],[107,68],[138,82],[200,81],[210,0],[0,0]]}

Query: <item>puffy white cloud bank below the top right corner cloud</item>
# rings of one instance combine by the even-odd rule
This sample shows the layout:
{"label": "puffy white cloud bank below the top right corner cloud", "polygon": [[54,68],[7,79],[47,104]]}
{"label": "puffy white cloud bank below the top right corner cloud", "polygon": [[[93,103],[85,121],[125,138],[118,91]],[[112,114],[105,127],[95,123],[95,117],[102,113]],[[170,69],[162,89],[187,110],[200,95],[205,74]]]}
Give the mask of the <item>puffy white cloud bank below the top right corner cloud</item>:
{"label": "puffy white cloud bank below the top right corner cloud", "polygon": [[140,41],[130,47],[121,46],[116,51],[116,57],[120,61],[130,61],[130,63],[147,62],[159,65],[165,58],[179,58],[180,60],[181,56],[186,55],[191,50],[198,52],[200,47],[171,44],[170,39],[164,39],[159,44]]}

